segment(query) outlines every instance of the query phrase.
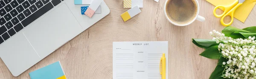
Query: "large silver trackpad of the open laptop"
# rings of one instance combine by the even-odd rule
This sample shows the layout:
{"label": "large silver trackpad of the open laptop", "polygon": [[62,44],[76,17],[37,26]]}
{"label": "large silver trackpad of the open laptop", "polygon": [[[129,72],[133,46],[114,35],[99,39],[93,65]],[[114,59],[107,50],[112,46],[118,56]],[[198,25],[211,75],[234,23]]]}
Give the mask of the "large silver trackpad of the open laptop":
{"label": "large silver trackpad of the open laptop", "polygon": [[23,32],[40,57],[46,57],[55,49],[81,33],[81,26],[64,3],[46,14]]}

